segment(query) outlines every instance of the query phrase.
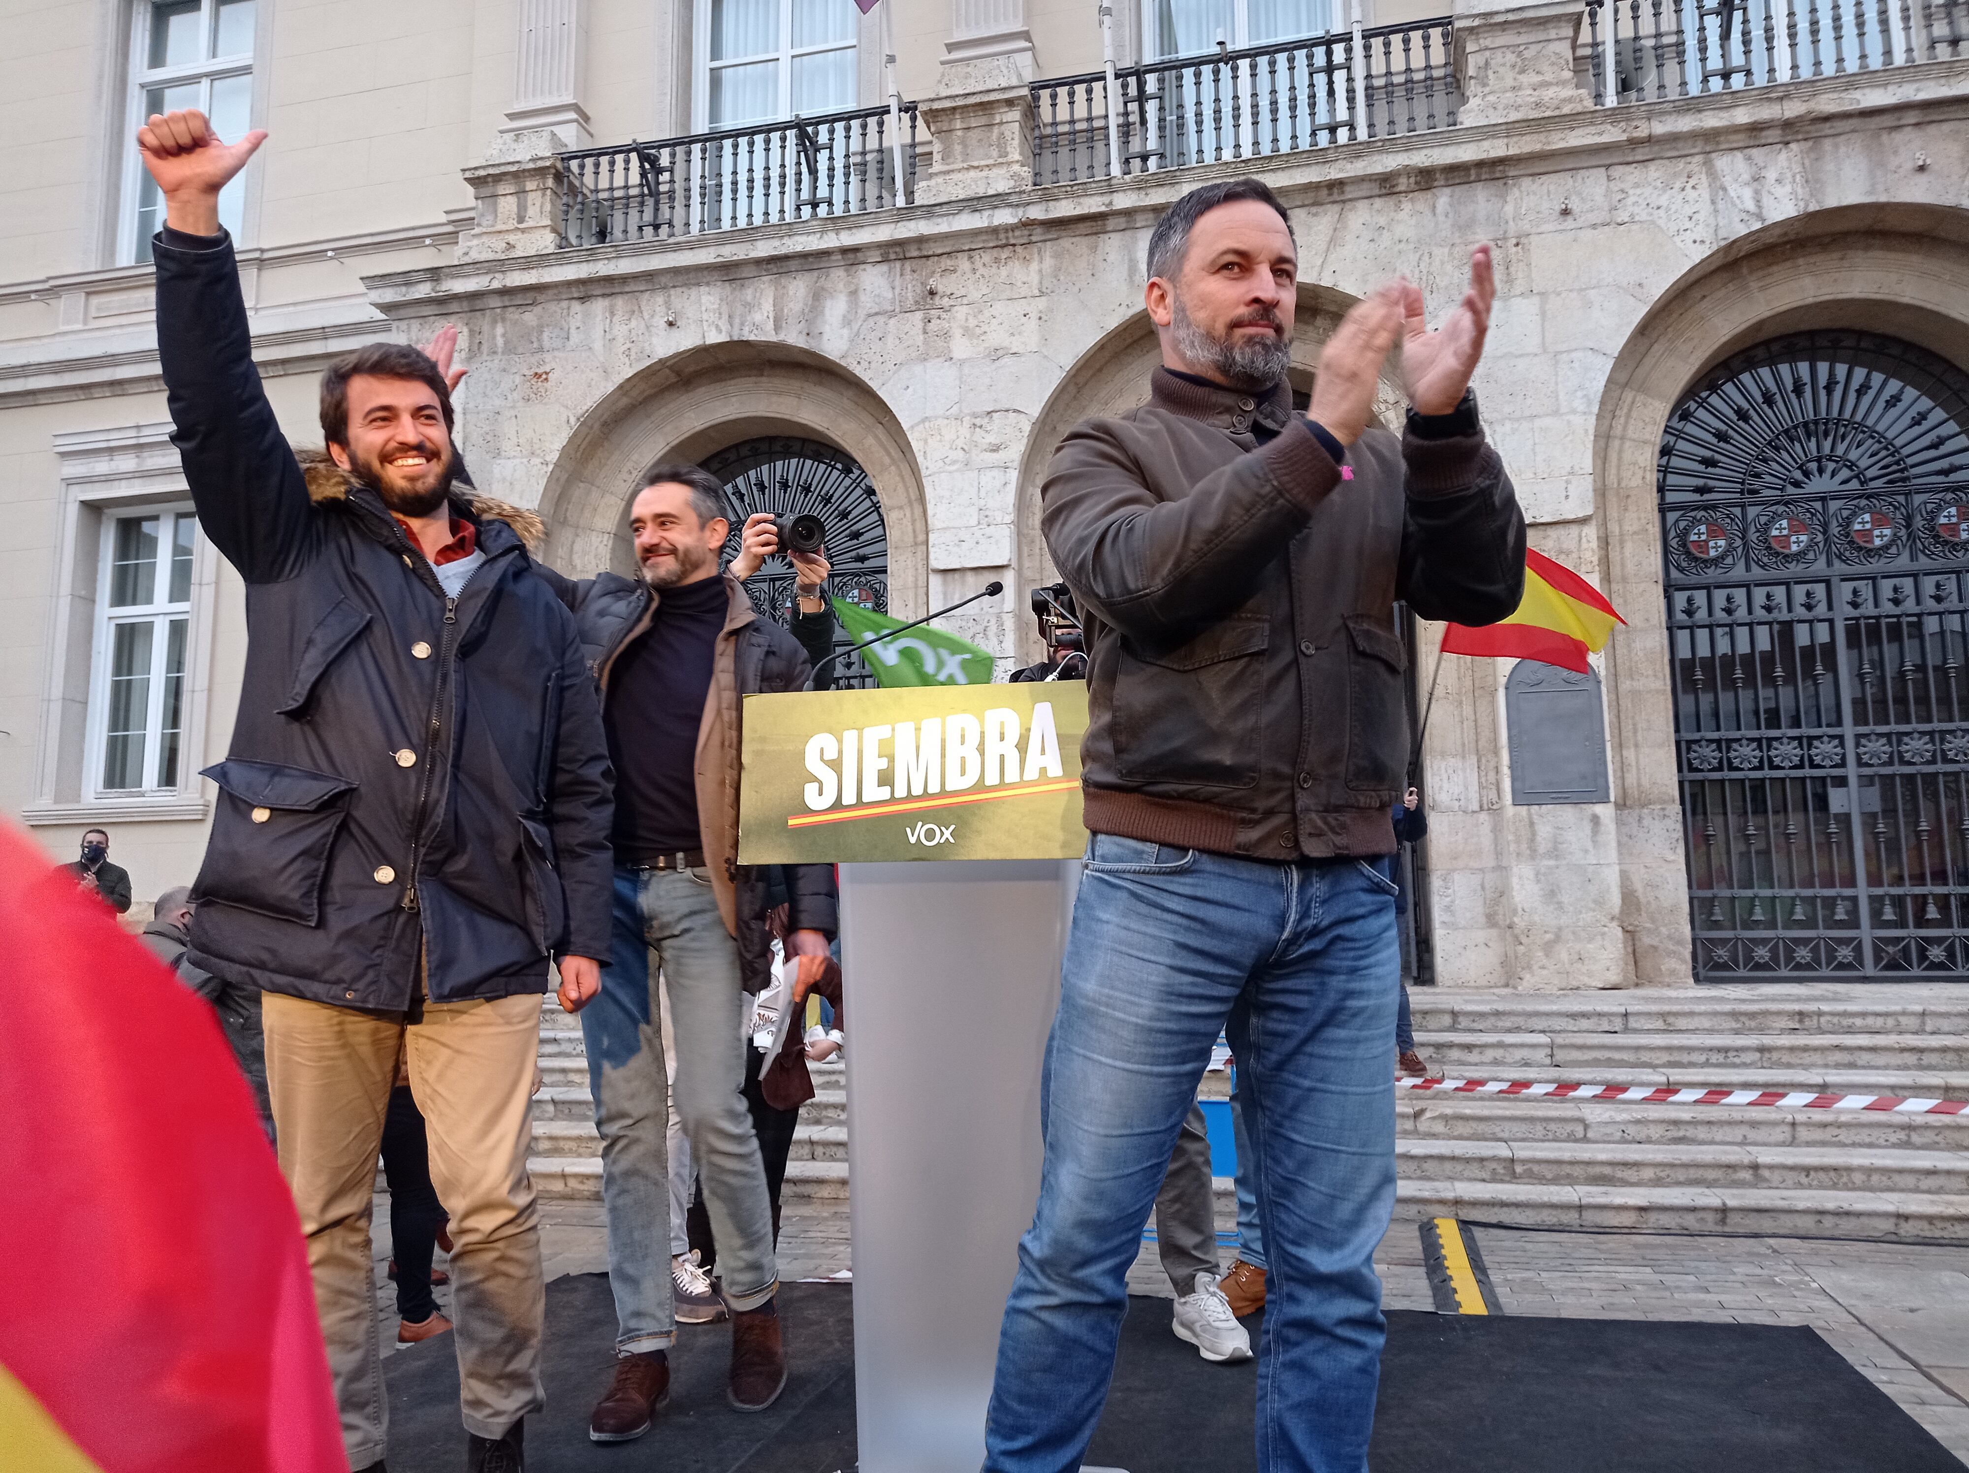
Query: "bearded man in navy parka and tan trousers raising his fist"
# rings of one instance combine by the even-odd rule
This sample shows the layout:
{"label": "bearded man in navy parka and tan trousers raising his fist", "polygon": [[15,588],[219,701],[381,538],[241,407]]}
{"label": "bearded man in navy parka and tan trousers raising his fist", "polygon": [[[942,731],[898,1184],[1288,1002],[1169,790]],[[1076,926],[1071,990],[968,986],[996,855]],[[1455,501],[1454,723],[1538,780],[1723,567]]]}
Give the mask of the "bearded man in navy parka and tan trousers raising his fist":
{"label": "bearded man in navy parka and tan trousers raising his fist", "polygon": [[549,967],[569,1010],[608,947],[612,776],[540,518],[459,480],[455,376],[404,343],[321,380],[303,467],[252,362],[219,191],[266,134],[199,112],[138,132],[165,201],[158,356],[199,530],[246,585],[232,744],[187,961],[262,989],[280,1170],[354,1469],[388,1434],[370,1199],[400,1063],[451,1211],[471,1473],[524,1467],[545,1406],[526,1172]]}

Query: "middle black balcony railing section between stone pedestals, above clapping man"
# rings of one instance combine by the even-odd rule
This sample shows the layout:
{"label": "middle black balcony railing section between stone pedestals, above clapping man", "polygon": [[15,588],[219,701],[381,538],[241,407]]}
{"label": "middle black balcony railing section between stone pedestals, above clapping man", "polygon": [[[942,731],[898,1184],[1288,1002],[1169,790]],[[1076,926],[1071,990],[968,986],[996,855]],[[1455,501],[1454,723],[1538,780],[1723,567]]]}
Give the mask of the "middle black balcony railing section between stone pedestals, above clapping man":
{"label": "middle black balcony railing section between stone pedestals, above clapping man", "polygon": [[[1963,0],[1969,4],[1969,0]],[[1032,181],[1105,179],[1453,128],[1449,20],[1146,61],[1032,85]]]}

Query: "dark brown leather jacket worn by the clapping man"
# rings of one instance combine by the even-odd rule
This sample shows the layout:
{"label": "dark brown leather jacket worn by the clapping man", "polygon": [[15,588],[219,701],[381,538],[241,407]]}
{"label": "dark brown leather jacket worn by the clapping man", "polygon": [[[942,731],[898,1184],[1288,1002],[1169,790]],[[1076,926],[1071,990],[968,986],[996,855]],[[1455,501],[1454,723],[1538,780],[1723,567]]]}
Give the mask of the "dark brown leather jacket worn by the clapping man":
{"label": "dark brown leather jacket worn by the clapping man", "polygon": [[[1158,368],[1150,394],[1077,425],[1042,490],[1087,612],[1087,827],[1270,861],[1392,853],[1396,599],[1491,624],[1524,593],[1524,514],[1475,406],[1368,429],[1343,479],[1284,382]],[[1254,419],[1278,431],[1264,447]]]}

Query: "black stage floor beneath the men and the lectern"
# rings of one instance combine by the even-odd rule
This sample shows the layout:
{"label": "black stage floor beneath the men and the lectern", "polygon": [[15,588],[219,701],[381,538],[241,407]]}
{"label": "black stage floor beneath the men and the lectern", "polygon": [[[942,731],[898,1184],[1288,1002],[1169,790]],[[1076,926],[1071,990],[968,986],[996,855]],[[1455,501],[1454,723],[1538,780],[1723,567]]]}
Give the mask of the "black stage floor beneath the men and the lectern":
{"label": "black stage floor beneath the men and the lectern", "polygon": [[[671,1404],[640,1441],[589,1441],[608,1382],[603,1274],[547,1286],[547,1412],[532,1473],[845,1473],[855,1467],[853,1298],[782,1290],[792,1377],[780,1402],[725,1402],[729,1331],[681,1331]],[[1252,1325],[1256,1339],[1258,1319]],[[451,1337],[388,1357],[392,1473],[465,1465]],[[1248,1473],[1250,1363],[1213,1367],[1170,1333],[1168,1300],[1132,1300],[1107,1416],[1087,1453],[1128,1473]],[[1810,1329],[1634,1319],[1388,1313],[1374,1473],[1963,1473],[1963,1465]]]}

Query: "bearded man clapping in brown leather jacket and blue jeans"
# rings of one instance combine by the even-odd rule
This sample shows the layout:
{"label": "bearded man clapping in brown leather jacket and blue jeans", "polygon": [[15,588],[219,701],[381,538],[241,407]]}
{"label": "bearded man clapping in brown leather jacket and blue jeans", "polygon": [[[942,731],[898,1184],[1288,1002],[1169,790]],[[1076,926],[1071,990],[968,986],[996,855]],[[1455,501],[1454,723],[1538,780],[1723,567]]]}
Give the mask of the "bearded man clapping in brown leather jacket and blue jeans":
{"label": "bearded man clapping in brown leather jacket and blue jeans", "polygon": [[[1394,1207],[1400,991],[1388,807],[1408,758],[1394,603],[1485,624],[1524,518],[1469,380],[1491,252],[1429,333],[1422,293],[1359,303],[1294,414],[1298,254],[1254,179],[1183,195],[1148,246],[1150,402],[1075,427],[1042,530],[1085,614],[1093,839],[1046,1067],[1046,1166],[998,1339],[990,1473],[1079,1465],[1126,1272],[1219,1028],[1258,1156],[1270,1298],[1258,1467],[1365,1473]],[[1372,425],[1402,345],[1410,414]]]}

